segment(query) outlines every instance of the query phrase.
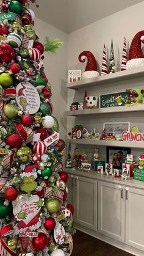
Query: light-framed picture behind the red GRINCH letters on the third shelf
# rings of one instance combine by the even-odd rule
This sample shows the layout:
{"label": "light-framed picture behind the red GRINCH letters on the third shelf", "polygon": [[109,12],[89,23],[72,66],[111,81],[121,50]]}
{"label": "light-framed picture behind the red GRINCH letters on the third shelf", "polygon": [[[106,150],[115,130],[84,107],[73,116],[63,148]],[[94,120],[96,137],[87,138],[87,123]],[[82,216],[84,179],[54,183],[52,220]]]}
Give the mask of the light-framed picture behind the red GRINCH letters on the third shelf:
{"label": "light-framed picture behind the red GRINCH letters on the third shelf", "polygon": [[120,140],[121,133],[123,133],[123,131],[130,131],[130,128],[130,122],[108,122],[103,124],[103,130],[106,130],[106,136],[115,136],[117,140]]}

